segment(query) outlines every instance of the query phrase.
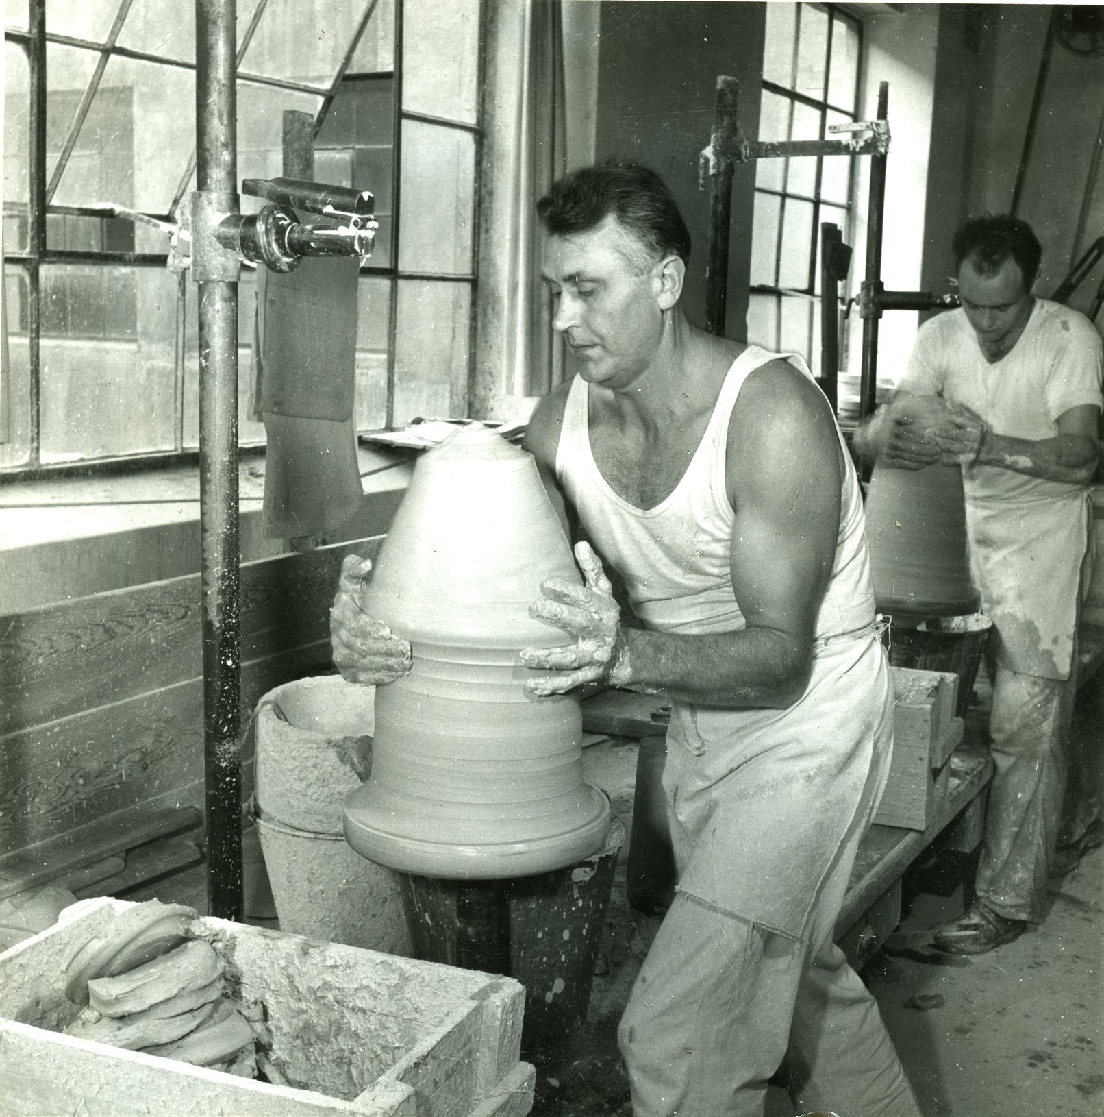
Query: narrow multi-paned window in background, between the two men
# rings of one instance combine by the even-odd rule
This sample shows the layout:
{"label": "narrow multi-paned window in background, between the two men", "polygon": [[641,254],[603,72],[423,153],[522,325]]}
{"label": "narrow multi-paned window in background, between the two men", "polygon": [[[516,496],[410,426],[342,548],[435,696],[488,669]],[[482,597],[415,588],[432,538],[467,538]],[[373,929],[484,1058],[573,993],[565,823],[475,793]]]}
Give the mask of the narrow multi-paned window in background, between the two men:
{"label": "narrow multi-paned window in background, between the two men", "polygon": [[[856,118],[857,20],[834,4],[768,3],[759,139],[833,139]],[[756,163],[748,338],[799,353],[819,372],[820,223],[846,238],[854,157],[762,159]]]}

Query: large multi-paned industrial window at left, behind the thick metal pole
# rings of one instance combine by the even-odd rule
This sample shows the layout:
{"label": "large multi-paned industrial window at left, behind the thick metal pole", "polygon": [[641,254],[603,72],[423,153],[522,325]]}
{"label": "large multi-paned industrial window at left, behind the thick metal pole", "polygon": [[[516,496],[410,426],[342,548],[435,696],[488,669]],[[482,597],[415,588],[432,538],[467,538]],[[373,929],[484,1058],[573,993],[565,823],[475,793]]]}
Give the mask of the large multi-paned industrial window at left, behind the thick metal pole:
{"label": "large multi-paned industrial window at left, behind the thick metal pole", "polygon": [[[179,0],[7,0],[0,474],[198,447],[196,287],[169,237],[195,189],[195,26]],[[281,173],[282,116],[317,122],[315,176],[372,190],[359,279],[362,431],[463,413],[474,283],[481,6],[238,0],[238,179]],[[399,223],[400,201],[404,220]],[[242,198],[247,212],[261,203]],[[239,285],[239,429],[255,273]],[[2,409],[0,409],[2,410]]]}

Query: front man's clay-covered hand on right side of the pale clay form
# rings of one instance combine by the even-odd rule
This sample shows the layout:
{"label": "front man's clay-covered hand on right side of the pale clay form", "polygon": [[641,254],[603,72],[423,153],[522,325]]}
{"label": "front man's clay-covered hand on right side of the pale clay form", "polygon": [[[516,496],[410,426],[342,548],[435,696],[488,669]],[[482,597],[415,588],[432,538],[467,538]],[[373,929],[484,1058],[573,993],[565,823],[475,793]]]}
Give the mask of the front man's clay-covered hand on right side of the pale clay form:
{"label": "front man's clay-covered hand on right side of the pale clay form", "polygon": [[544,596],[529,607],[530,617],[548,621],[575,638],[575,643],[560,648],[522,650],[521,661],[526,667],[561,672],[529,679],[527,689],[541,697],[566,694],[584,682],[626,681],[620,678],[625,667],[621,609],[609,579],[589,543],[576,545],[575,558],[586,584],[546,579],[540,584]]}

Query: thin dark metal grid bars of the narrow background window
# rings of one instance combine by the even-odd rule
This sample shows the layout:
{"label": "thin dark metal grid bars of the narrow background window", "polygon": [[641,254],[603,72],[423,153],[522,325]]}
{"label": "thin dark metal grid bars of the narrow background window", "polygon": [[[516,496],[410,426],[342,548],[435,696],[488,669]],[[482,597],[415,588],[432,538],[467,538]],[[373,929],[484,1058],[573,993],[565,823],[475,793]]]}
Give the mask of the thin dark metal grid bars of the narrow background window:
{"label": "thin dark metal grid bars of the narrow background window", "polygon": [[[760,87],[764,93],[770,93],[775,96],[783,97],[788,102],[788,124],[787,131],[793,132],[794,125],[794,111],[796,105],[805,105],[808,108],[813,108],[817,112],[819,116],[818,126],[818,139],[824,141],[831,139],[827,127],[828,127],[828,114],[837,114],[845,116],[851,122],[858,120],[860,109],[860,98],[862,95],[862,83],[863,83],[863,66],[865,61],[865,41],[864,41],[864,28],[863,21],[857,16],[846,10],[846,8],[838,3],[818,3],[810,2],[810,0],[798,0],[795,3],[796,9],[796,22],[794,30],[794,58],[793,67],[796,80],[797,73],[797,59],[800,49],[800,34],[801,34],[801,18],[804,9],[815,8],[823,11],[827,16],[828,34],[825,40],[824,47],[824,87],[823,97],[813,97],[806,93],[801,93],[798,89],[789,88],[785,85],[780,85],[777,82],[772,82],[766,77],[760,80]],[[837,105],[828,99],[831,90],[831,63],[832,63],[832,46],[833,38],[835,36],[835,20],[841,19],[855,30],[857,36],[857,52],[856,52],[856,65],[855,65],[855,86],[854,86],[854,102],[853,107],[847,108],[842,105]],[[796,156],[791,156],[796,157]],[[809,156],[800,156],[808,159]],[[848,170],[848,188],[847,188],[847,200],[845,202],[835,202],[822,197],[822,184],[824,176],[824,160],[825,159],[844,159],[847,157],[851,162]],[[817,334],[817,312],[819,309],[819,255],[820,255],[820,221],[822,221],[822,208],[824,206],[831,207],[833,210],[844,210],[845,213],[845,225],[841,230],[845,240],[847,240],[854,231],[855,225],[855,207],[857,204],[857,189],[858,189],[858,175],[855,173],[856,170],[856,156],[843,156],[843,155],[817,155],[816,156],[816,175],[815,184],[812,194],[801,193],[796,190],[789,189],[789,174],[788,174],[788,160],[787,162],[787,173],[783,182],[781,189],[776,189],[774,187],[760,187],[758,181],[753,187],[755,191],[755,204],[758,206],[760,195],[768,195],[771,198],[777,198],[779,200],[779,216],[778,216],[778,229],[775,239],[775,254],[774,254],[774,266],[775,266],[775,283],[772,284],[749,284],[748,295],[749,299],[756,295],[770,296],[775,304],[775,331],[774,338],[771,340],[771,347],[779,349],[781,345],[781,323],[783,323],[783,302],[787,298],[799,298],[803,300],[808,300],[812,305],[812,313],[808,315],[808,331],[806,336],[806,353],[808,356],[809,367],[816,372],[816,357],[818,356],[818,338]],[[757,164],[758,172],[758,164]],[[757,174],[758,178],[758,174]],[[788,201],[797,201],[803,203],[810,203],[813,206],[813,221],[810,230],[810,242],[809,242],[809,255],[808,255],[808,276],[807,283],[804,287],[783,287],[779,284],[780,270],[783,267],[783,239],[786,231],[786,210]],[[751,261],[752,267],[755,261]]]}

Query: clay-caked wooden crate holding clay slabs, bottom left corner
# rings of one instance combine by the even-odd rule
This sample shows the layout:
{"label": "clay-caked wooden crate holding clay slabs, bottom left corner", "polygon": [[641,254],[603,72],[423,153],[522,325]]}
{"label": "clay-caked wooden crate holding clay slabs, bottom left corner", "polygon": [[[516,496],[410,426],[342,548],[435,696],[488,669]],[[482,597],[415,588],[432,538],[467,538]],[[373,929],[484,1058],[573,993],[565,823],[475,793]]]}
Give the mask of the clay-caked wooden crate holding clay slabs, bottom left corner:
{"label": "clay-caked wooden crate holding clay slabs, bottom left corner", "polygon": [[6,1117],[182,1113],[204,1117],[522,1117],[525,991],[508,977],[223,919],[198,933],[231,987],[265,1005],[268,1058],[289,1086],[59,1034],[76,1009],[59,975],[90,933],[131,905],[85,900],[0,954],[0,1098]]}

